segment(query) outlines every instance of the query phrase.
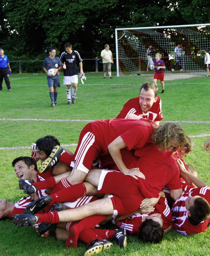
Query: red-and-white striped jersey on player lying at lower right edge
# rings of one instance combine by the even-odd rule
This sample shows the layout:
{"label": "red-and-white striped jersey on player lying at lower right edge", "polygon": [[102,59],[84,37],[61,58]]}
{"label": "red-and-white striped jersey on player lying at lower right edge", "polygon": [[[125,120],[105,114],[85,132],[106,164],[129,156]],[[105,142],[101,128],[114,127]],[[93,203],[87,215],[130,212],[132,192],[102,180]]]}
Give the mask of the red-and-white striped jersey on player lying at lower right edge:
{"label": "red-and-white striped jersey on player lying at lower right edge", "polygon": [[203,186],[195,188],[190,185],[186,185],[183,193],[174,203],[172,207],[172,229],[175,229],[185,236],[204,232],[210,224],[210,217],[200,222],[198,225],[193,225],[190,222],[189,216],[187,215],[187,209],[185,207],[185,200],[189,195],[199,195],[210,203],[210,187]]}

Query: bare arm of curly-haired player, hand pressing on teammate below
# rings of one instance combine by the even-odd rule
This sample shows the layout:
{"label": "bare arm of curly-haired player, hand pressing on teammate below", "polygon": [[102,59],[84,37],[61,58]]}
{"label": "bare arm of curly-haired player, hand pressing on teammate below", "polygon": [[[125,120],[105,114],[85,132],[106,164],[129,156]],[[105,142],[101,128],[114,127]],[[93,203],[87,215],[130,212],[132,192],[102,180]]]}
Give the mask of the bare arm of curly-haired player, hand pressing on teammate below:
{"label": "bare arm of curly-haired player, hand pressing on teammate below", "polygon": [[[132,168],[128,169],[123,160],[120,153],[121,149],[126,148],[127,145],[125,144],[124,140],[121,138],[121,136],[118,136],[113,142],[111,142],[108,145],[108,150],[110,155],[112,156],[113,160],[116,163],[116,166],[119,168],[119,170],[124,173],[125,175],[130,175],[136,180],[139,178],[145,179],[145,176],[143,173],[140,172],[139,168]],[[136,177],[137,176],[137,177]]]}

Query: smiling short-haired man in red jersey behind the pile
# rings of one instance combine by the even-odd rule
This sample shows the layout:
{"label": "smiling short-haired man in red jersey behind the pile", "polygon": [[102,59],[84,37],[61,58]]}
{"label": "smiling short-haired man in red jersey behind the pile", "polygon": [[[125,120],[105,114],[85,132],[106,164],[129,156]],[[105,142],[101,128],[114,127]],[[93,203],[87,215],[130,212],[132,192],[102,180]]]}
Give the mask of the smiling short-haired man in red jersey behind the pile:
{"label": "smiling short-haired man in red jersey behind the pile", "polygon": [[145,118],[159,125],[163,119],[161,107],[158,86],[155,83],[145,82],[140,88],[140,96],[126,102],[116,118]]}

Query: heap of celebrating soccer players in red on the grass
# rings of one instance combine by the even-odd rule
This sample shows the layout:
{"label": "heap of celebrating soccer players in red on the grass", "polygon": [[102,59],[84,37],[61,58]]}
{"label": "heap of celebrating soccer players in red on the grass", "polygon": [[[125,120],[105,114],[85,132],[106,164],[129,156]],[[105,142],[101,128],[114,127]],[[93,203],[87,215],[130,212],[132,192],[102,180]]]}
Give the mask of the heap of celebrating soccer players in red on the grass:
{"label": "heap of celebrating soccer players in red on the grass", "polygon": [[[89,244],[84,255],[113,242],[125,248],[126,232],[158,243],[171,228],[183,235],[205,231],[210,187],[184,163],[193,146],[184,130],[174,123],[158,126],[163,116],[157,92],[154,83],[144,83],[115,119],[87,124],[74,154],[53,136],[38,139],[32,157],[12,162],[29,196],[17,204],[1,200],[0,217],[34,225],[42,236],[53,232],[69,247],[82,240]],[[115,230],[95,228],[110,220]]]}

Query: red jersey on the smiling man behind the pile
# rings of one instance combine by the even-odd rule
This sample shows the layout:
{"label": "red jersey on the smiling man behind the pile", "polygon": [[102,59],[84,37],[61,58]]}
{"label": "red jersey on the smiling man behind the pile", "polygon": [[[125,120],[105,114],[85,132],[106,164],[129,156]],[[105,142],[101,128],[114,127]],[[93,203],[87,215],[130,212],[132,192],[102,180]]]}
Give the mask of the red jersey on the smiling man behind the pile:
{"label": "red jersey on the smiling man behind the pile", "polygon": [[157,96],[157,101],[153,103],[152,107],[147,113],[143,113],[139,105],[140,96],[133,98],[125,103],[121,112],[116,118],[127,118],[128,114],[135,114],[140,118],[148,119],[151,121],[160,121],[163,119],[162,114],[162,103],[159,96]]}

